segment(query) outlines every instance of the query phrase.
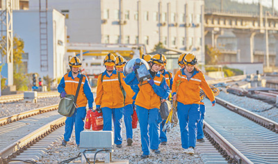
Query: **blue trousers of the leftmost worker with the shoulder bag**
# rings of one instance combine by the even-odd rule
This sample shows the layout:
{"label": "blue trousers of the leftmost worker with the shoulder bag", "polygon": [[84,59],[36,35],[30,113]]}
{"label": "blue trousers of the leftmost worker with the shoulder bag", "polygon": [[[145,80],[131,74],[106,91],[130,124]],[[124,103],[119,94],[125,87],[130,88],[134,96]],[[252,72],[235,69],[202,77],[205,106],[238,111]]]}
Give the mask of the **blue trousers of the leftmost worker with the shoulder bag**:
{"label": "blue trousers of the leftmost worker with the shoulder bag", "polygon": [[[75,142],[76,145],[80,144],[80,133],[84,130],[84,119],[86,116],[86,108],[80,107],[76,108],[72,117],[67,117],[65,120],[65,133],[64,140],[70,141],[70,137],[72,136],[72,130],[75,126]],[[74,125],[75,124],[75,125]]]}

